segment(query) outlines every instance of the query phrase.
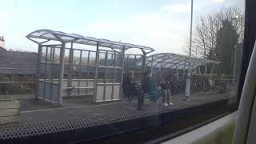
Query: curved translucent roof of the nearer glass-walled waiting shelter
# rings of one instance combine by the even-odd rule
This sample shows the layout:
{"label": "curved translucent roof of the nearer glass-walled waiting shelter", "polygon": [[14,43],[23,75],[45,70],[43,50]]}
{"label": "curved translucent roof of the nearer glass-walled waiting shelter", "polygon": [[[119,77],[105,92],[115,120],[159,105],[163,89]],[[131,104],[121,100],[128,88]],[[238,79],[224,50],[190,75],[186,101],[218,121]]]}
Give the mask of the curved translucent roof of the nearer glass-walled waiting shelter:
{"label": "curved translucent roof of the nearer glass-walled waiting shelter", "polygon": [[[84,45],[97,46],[97,42],[98,42],[99,46],[109,47],[112,49],[122,50],[125,46],[125,49],[138,48],[138,49],[141,49],[142,51],[144,50],[145,52],[154,51],[153,48],[148,46],[140,46],[140,45],[134,45],[131,43],[124,43],[124,42],[114,42],[114,41],[110,41],[102,38],[85,37],[79,34],[66,34],[62,31],[54,31],[54,30],[46,30],[46,29],[35,30],[34,32],[26,35],[26,38],[29,38],[30,40],[32,40],[33,42],[37,42],[38,44],[43,44],[49,41],[59,41],[62,43],[73,42],[73,43],[79,43]],[[41,39],[41,41],[42,39],[44,39],[46,41],[40,42],[34,38]]]}

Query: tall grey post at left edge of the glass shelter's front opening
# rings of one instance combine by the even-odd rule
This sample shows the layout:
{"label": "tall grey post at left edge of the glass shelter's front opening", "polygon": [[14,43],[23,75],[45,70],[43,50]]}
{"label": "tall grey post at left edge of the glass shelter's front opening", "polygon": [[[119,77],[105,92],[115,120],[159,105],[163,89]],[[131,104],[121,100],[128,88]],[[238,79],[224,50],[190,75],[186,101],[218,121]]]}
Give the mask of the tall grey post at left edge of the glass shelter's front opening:
{"label": "tall grey post at left edge of the glass shelter's front opening", "polygon": [[59,59],[59,75],[58,75],[58,105],[62,106],[62,94],[63,94],[63,75],[64,75],[64,59],[65,59],[65,43],[62,43]]}

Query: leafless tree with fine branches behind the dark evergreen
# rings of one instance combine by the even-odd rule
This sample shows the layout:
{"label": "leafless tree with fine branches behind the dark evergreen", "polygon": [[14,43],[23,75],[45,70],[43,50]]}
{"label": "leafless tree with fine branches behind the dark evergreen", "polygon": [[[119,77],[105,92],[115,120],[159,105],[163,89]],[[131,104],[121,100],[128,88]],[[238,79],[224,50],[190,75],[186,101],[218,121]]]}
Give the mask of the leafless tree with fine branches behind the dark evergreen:
{"label": "leafless tree with fine branches behind the dark evergreen", "polygon": [[[192,36],[192,57],[216,60],[217,31],[222,27],[222,22],[230,21],[235,30],[242,37],[242,12],[238,7],[227,7],[218,13],[206,14],[198,18]],[[238,19],[234,19],[238,17]],[[239,38],[240,42],[242,38]],[[186,38],[185,52],[189,53],[189,38]]]}

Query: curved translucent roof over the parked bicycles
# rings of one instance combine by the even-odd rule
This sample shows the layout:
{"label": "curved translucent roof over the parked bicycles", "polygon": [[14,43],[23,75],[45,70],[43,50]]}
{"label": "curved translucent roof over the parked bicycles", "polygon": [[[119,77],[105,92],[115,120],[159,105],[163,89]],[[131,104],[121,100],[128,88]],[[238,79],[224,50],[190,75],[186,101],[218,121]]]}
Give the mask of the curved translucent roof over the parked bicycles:
{"label": "curved translucent roof over the parked bicycles", "polygon": [[[142,61],[137,64],[141,64]],[[169,68],[169,69],[178,69],[178,70],[187,70],[189,68],[189,62],[191,62],[191,69],[208,64],[214,63],[218,64],[220,62],[207,60],[203,58],[190,58],[182,54],[173,54],[173,53],[159,53],[152,54],[146,57],[146,66],[153,66],[154,68]]]}

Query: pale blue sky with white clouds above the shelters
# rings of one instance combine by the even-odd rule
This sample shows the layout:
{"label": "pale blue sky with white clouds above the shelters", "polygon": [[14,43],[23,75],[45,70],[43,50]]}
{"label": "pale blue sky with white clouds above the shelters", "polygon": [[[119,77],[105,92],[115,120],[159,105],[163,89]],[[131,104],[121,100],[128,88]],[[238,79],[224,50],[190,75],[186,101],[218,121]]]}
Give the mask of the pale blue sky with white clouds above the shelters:
{"label": "pale blue sky with white clouds above the shelters", "polygon": [[[37,51],[26,38],[49,29],[185,54],[190,0],[0,0],[0,36],[7,49]],[[194,0],[194,23],[202,15],[244,0]]]}

